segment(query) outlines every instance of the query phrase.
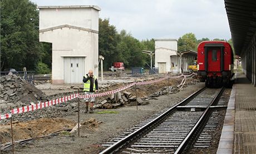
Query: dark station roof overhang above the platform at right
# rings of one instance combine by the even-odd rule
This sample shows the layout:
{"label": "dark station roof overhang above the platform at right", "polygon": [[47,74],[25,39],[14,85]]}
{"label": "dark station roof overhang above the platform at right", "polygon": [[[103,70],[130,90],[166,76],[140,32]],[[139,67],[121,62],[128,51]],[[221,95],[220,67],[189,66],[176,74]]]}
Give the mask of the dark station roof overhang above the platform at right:
{"label": "dark station roof overhang above the platform at right", "polygon": [[241,56],[256,33],[256,1],[224,1],[234,51]]}

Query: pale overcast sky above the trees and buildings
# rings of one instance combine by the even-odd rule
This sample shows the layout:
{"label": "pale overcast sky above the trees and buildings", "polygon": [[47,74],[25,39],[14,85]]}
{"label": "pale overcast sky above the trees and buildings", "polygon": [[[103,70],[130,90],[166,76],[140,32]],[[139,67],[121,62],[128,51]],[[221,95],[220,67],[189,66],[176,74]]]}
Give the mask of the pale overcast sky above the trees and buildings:
{"label": "pale overcast sky above the trees and buildings", "polygon": [[230,39],[224,0],[31,0],[38,6],[96,5],[117,31],[133,37],[179,38],[192,32],[197,39]]}

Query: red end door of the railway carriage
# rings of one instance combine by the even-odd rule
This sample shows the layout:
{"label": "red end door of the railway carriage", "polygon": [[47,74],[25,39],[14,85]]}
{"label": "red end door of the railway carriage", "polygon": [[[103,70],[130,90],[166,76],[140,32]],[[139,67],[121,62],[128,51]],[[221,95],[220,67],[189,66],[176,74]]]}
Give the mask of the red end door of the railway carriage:
{"label": "red end door of the railway carriage", "polygon": [[220,48],[209,49],[208,72],[220,72]]}

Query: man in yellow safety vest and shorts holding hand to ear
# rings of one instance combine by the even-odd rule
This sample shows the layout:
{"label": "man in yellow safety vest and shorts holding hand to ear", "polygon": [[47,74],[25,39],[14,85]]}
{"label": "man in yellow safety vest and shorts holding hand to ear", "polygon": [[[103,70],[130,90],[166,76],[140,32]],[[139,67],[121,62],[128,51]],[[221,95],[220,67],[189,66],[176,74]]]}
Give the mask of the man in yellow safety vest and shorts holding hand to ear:
{"label": "man in yellow safety vest and shorts holding hand to ear", "polygon": [[[85,95],[91,95],[98,91],[98,81],[96,76],[93,76],[92,70],[88,72],[85,76],[83,76],[83,92]],[[93,103],[95,102],[95,97],[85,98],[85,112],[93,113]],[[90,102],[90,110],[88,110],[88,104]]]}

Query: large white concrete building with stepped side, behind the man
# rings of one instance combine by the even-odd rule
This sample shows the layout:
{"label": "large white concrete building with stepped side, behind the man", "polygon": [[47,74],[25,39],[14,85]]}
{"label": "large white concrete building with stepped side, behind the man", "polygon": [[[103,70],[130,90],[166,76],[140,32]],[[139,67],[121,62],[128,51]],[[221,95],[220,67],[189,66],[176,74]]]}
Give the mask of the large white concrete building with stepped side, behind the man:
{"label": "large white concrete building with stepped side, behind the man", "polygon": [[89,69],[98,76],[97,6],[41,6],[40,42],[52,43],[52,83],[82,83]]}

